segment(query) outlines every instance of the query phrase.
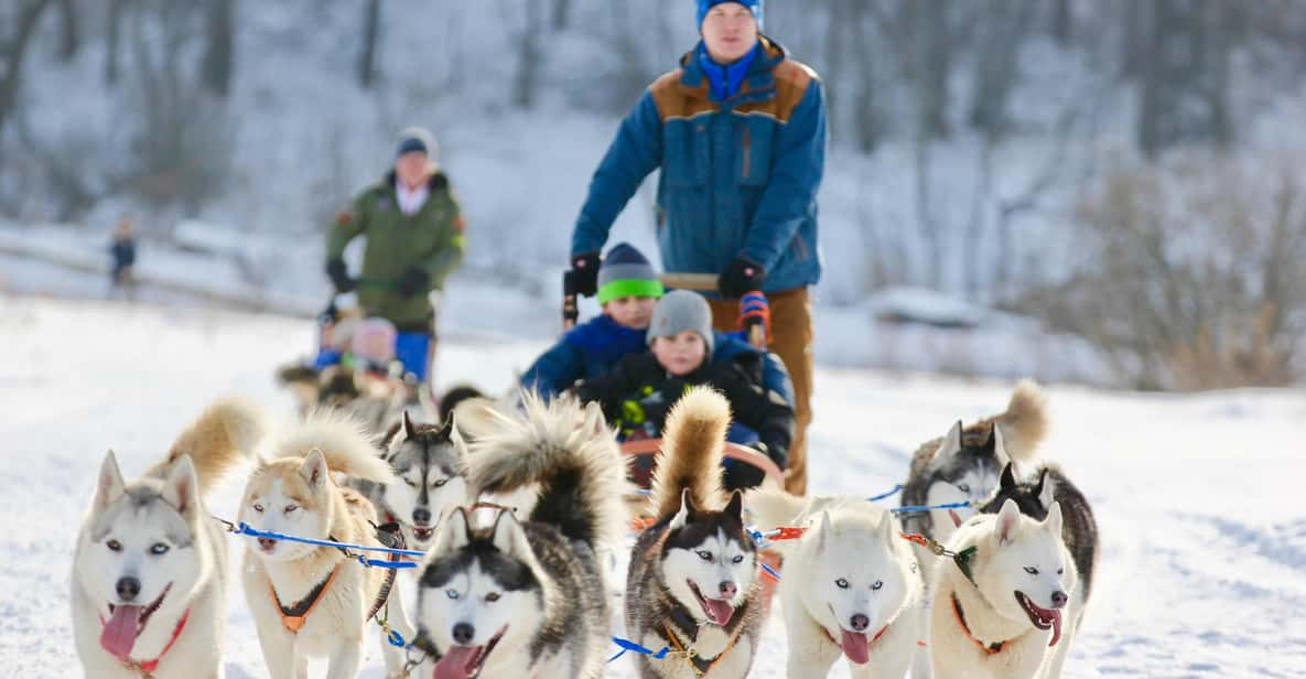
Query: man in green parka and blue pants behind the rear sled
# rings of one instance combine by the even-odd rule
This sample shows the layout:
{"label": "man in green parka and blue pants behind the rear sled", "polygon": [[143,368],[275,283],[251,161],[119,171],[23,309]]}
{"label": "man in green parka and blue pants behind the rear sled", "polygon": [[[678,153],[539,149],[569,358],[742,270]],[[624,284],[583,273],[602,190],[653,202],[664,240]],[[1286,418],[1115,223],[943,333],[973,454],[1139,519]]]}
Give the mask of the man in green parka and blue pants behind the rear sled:
{"label": "man in green parka and blue pants behind the rear sled", "polygon": [[[400,134],[394,170],[363,189],[326,230],[326,276],[340,292],[358,291],[368,316],[398,330],[394,353],[418,384],[435,351],[431,292],[462,261],[464,218],[448,178],[435,162],[435,137],[423,128]],[[367,236],[363,270],[351,278],[342,259]]]}

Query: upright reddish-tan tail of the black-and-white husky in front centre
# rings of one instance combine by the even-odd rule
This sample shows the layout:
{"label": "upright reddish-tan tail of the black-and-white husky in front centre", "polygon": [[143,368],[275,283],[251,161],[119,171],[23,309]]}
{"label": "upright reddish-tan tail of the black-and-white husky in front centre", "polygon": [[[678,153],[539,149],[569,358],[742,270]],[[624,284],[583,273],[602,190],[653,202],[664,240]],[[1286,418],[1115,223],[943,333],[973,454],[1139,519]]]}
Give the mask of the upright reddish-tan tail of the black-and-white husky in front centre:
{"label": "upright reddish-tan tail of the black-and-white husky in front centre", "polygon": [[665,521],[680,511],[680,496],[700,509],[724,504],[721,457],[730,428],[730,402],[708,387],[684,393],[662,428],[662,450],[653,469],[653,517]]}

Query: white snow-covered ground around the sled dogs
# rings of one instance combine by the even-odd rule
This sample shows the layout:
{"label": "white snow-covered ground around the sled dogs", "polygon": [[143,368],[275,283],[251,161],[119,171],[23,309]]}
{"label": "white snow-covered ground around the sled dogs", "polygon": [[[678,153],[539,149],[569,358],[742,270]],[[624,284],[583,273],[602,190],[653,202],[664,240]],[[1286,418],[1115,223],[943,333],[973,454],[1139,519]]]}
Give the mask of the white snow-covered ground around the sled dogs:
{"label": "white snow-covered ground around the sled dogs", "polygon": [[[76,526],[104,450],[140,473],[212,398],[239,393],[289,417],[273,367],[303,353],[298,320],[180,307],[0,295],[0,657],[9,676],[77,675],[69,615]],[[542,342],[451,341],[436,373],[502,389]],[[816,492],[868,495],[957,418],[999,409],[1011,384],[865,370],[818,371]],[[1050,390],[1045,450],[1094,505],[1100,585],[1068,676],[1306,674],[1306,394],[1157,396]],[[235,513],[240,479],[210,501]],[[235,538],[234,538],[235,539]],[[234,559],[240,550],[232,550]],[[266,671],[232,592],[227,676]],[[375,646],[362,676],[381,676]],[[755,676],[781,676],[773,614]],[[313,676],[321,676],[316,666]],[[624,661],[614,676],[631,676]],[[836,676],[846,676],[838,667]]]}

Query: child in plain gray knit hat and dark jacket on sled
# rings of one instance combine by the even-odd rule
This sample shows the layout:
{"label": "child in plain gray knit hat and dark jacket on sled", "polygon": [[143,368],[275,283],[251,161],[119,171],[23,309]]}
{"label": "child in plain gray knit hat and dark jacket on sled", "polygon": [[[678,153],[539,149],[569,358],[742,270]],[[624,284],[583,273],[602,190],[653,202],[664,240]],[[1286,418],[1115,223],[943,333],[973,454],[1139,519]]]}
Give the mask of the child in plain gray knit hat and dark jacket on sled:
{"label": "child in plain gray knit hat and dark jacket on sled", "polygon": [[[657,439],[671,405],[690,387],[709,384],[724,393],[734,413],[729,439],[765,453],[781,469],[793,437],[794,411],[782,397],[761,388],[760,354],[712,360],[712,309],[686,290],[667,292],[653,308],[649,351],[631,354],[611,371],[576,388],[581,401],[598,402],[622,440]],[[761,481],[760,475],[750,486]]]}

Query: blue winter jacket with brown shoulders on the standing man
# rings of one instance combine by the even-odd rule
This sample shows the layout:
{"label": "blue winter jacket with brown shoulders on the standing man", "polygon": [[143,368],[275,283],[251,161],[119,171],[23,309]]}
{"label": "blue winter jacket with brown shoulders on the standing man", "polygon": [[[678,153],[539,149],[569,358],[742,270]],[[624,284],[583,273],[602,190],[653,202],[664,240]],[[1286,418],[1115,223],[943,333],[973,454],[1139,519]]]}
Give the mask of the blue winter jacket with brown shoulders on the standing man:
{"label": "blue winter jacket with brown shoulders on the standing man", "polygon": [[713,98],[697,48],[649,86],[594,172],[572,253],[601,249],[626,202],[661,167],[665,270],[720,274],[742,255],[767,270],[767,292],[820,279],[821,84],[774,40],[760,42],[739,91],[724,102]]}

